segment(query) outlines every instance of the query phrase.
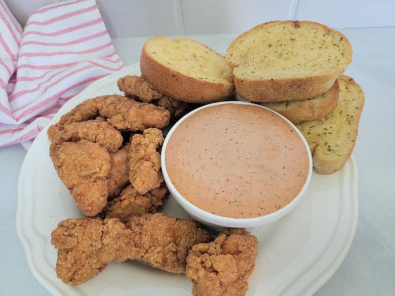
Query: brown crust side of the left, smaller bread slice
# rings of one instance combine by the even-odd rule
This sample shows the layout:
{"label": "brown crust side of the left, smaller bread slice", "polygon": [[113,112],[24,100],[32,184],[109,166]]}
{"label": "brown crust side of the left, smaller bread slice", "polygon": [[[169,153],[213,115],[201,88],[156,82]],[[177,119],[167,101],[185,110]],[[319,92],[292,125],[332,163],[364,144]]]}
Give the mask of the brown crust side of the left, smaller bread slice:
{"label": "brown crust side of the left, smaller bread slice", "polygon": [[214,83],[181,74],[156,61],[147,53],[146,46],[141,52],[141,75],[158,91],[177,100],[197,104],[224,101],[233,96],[233,81]]}

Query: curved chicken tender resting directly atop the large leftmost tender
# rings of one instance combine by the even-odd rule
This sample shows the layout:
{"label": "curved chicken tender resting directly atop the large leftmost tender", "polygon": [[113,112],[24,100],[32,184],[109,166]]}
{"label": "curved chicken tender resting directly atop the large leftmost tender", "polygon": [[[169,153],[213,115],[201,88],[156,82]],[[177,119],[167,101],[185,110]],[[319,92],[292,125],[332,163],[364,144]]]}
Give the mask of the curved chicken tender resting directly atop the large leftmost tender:
{"label": "curved chicken tender resting directly atop the large leftmost tender", "polygon": [[101,147],[110,152],[115,152],[122,146],[122,135],[109,122],[102,118],[73,122],[67,126],[62,126],[59,130],[51,134],[51,142],[62,143],[64,141],[78,142],[81,139],[98,143]]}

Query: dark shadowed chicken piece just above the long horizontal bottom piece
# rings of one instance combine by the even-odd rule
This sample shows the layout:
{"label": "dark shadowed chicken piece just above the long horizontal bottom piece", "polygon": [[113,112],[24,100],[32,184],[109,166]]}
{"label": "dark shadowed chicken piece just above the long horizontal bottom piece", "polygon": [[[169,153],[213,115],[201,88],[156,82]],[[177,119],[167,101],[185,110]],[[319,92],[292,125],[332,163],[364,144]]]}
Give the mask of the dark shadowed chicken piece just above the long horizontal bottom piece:
{"label": "dark shadowed chicken piece just above the long horizontal bottom piece", "polygon": [[164,183],[146,194],[138,193],[132,185],[129,185],[122,190],[118,197],[108,203],[105,217],[118,218],[121,222],[126,223],[134,216],[154,214],[163,206],[163,198],[167,193],[168,190]]}

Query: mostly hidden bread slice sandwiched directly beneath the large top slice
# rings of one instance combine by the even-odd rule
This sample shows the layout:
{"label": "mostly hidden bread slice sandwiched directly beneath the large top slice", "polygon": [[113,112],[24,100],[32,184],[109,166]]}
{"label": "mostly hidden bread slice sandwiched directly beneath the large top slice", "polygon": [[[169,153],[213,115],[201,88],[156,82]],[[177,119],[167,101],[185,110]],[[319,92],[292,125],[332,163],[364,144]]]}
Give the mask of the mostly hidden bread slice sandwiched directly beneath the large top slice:
{"label": "mostly hidden bread slice sandwiched directly beneath the large top slice", "polygon": [[331,89],[313,99],[286,102],[258,103],[285,117],[292,123],[324,118],[332,112],[339,100],[339,82],[336,80]]}

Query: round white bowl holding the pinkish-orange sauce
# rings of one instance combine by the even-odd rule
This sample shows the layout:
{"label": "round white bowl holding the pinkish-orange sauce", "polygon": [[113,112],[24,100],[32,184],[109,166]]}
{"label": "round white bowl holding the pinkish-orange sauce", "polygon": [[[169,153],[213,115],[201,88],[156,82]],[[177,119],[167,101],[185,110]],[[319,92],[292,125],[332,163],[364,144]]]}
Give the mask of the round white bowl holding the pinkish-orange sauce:
{"label": "round white bowl holding the pinkish-orange sauce", "polygon": [[[223,104],[238,104],[238,105],[253,105],[253,106],[258,106],[263,109],[266,109],[268,111],[271,111],[275,113],[276,115],[280,116],[283,118],[299,135],[299,137],[302,139],[303,143],[305,144],[306,151],[308,154],[309,158],[309,173],[306,178],[306,182],[302,187],[302,190],[299,192],[299,194],[286,206],[283,208],[279,209],[278,211],[265,215],[265,216],[260,216],[260,217],[255,217],[255,218],[228,218],[228,217],[223,217],[223,216],[218,216],[209,212],[206,212],[191,202],[189,202],[187,199],[185,199],[174,187],[174,185],[171,183],[169,175],[167,174],[166,170],[166,146],[167,143],[169,142],[169,139],[173,132],[176,130],[176,128],[183,122],[186,118],[194,114],[195,112],[204,109],[204,108],[209,108],[211,106],[217,106],[217,105],[223,105]],[[213,103],[213,104],[208,104],[204,105],[200,108],[195,109],[194,111],[189,112],[188,114],[184,115],[180,120],[178,120],[173,127],[170,129],[170,131],[167,133],[167,136],[164,140],[163,147],[162,147],[162,152],[161,152],[161,166],[162,166],[162,172],[163,172],[163,177],[164,181],[166,182],[167,187],[169,188],[170,193],[173,195],[173,197],[176,199],[176,201],[181,205],[181,207],[184,208],[184,210],[196,221],[201,222],[202,224],[207,225],[208,227],[216,230],[216,231],[222,231],[226,227],[231,227],[231,228],[246,228],[249,231],[257,231],[258,228],[261,228],[264,225],[268,225],[269,223],[275,222],[276,220],[284,217],[287,215],[289,212],[291,212],[296,205],[299,203],[301,200],[302,196],[307,190],[307,187],[310,184],[310,179],[312,176],[312,171],[313,171],[313,160],[312,156],[310,153],[310,148],[309,145],[306,141],[306,139],[303,137],[302,133],[296,128],[296,126],[290,122],[287,118],[282,116],[281,114],[277,113],[276,111],[273,111],[269,108],[263,107],[261,105],[257,104],[252,104],[248,102],[239,102],[239,101],[226,101],[226,102],[219,102],[219,103]]]}

